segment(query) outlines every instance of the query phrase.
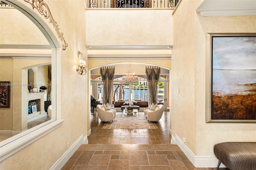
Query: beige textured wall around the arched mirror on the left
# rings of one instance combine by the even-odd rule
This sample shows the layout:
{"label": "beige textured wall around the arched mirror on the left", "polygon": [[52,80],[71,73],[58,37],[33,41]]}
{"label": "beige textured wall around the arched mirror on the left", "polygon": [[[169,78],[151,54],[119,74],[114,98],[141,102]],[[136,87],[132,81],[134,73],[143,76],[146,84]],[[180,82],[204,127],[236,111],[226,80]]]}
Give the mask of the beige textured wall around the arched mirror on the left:
{"label": "beige textured wall around the arched mirror on the left", "polygon": [[[13,1],[14,2],[14,1]],[[61,56],[57,57],[58,64],[61,66],[60,84],[57,84],[57,90],[61,90],[61,104],[57,113],[61,119],[64,119],[63,125],[54,129],[47,135],[36,140],[31,145],[18,151],[0,163],[1,169],[49,169],[67,150],[67,143],[70,146],[82,135],[87,135],[87,76],[80,76],[76,72],[77,52],[80,50],[87,61],[85,44],[85,17],[84,1],[59,1],[44,0],[50,8],[54,20],[58,23],[64,38],[68,43],[65,51],[61,51]],[[15,2],[16,3],[16,2]],[[49,19],[41,16],[36,9],[24,1],[19,1],[28,10],[30,14],[36,14],[42,20],[42,25],[48,25],[57,39],[58,35],[49,23]],[[65,12],[63,12],[65,9]],[[72,14],[72,15],[65,15]],[[22,35],[21,35],[22,36]],[[17,37],[19,38],[19,37]],[[60,39],[58,39],[61,44]],[[55,66],[52,66],[54,69]],[[55,68],[56,69],[56,68]],[[60,94],[59,94],[60,95]],[[90,113],[89,113],[90,114]]]}

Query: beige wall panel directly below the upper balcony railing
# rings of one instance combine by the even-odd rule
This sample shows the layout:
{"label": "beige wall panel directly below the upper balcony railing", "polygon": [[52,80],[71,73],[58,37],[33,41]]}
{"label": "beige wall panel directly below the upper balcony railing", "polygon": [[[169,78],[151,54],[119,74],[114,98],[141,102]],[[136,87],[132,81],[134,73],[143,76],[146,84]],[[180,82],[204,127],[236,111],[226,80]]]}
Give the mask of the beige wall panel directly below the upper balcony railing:
{"label": "beige wall panel directly below the upper balcony railing", "polygon": [[86,9],[87,45],[172,45],[173,10]]}

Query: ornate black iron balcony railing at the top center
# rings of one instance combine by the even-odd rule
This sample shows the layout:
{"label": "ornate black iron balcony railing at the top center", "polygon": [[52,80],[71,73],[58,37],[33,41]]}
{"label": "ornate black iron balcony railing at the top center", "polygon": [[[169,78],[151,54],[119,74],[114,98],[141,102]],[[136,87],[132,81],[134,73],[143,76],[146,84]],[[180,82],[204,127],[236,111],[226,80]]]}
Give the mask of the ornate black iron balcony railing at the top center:
{"label": "ornate black iron balcony railing at the top center", "polygon": [[175,8],[179,0],[90,0],[89,8]]}

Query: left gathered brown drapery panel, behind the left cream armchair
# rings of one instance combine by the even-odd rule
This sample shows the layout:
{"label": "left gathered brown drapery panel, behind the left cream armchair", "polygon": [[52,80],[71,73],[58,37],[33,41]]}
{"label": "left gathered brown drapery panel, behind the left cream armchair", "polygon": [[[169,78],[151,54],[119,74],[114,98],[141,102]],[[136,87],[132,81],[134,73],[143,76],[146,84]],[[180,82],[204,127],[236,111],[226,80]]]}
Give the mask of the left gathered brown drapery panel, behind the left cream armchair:
{"label": "left gathered brown drapery panel, behind the left cream armchair", "polygon": [[100,74],[103,82],[103,103],[112,105],[111,94],[113,80],[115,75],[115,67],[100,67]]}

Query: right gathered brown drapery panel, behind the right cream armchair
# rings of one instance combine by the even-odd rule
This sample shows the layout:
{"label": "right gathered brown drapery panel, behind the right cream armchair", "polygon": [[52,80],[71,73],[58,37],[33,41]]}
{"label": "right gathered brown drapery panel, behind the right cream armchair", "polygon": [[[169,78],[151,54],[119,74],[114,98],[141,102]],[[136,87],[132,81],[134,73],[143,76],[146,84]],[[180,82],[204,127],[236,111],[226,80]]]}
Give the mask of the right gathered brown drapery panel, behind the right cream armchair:
{"label": "right gathered brown drapery panel, behind the right cream armchair", "polygon": [[155,103],[157,95],[157,85],[160,76],[160,67],[146,67],[146,78],[148,81],[148,91],[150,99],[148,102]]}

